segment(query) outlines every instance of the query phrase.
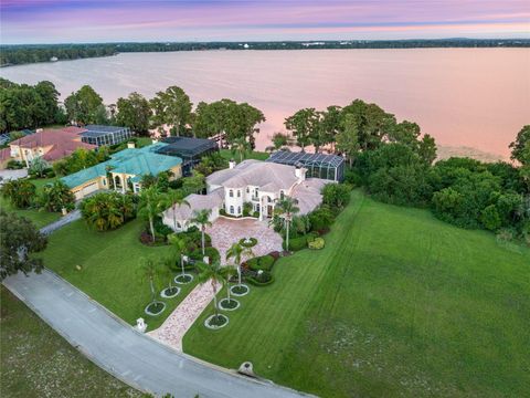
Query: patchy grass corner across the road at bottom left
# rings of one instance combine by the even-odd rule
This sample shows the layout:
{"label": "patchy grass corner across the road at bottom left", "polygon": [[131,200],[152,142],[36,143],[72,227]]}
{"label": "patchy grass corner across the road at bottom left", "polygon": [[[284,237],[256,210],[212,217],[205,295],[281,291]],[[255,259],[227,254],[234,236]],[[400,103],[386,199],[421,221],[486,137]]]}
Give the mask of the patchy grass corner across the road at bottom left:
{"label": "patchy grass corner across the road at bottom left", "polygon": [[0,390],[3,397],[140,397],[86,359],[0,286]]}

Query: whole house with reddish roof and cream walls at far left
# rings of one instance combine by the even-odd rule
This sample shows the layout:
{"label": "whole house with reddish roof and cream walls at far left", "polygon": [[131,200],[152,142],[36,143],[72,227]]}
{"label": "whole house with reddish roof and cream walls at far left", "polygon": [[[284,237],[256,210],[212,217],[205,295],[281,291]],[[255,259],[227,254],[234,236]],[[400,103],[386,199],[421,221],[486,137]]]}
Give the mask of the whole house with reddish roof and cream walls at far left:
{"label": "whole house with reddish roof and cream walls at far left", "polygon": [[80,127],[43,129],[35,134],[15,139],[9,144],[11,158],[24,163],[28,167],[36,157],[53,163],[71,155],[75,149],[95,149],[95,145],[81,140]]}

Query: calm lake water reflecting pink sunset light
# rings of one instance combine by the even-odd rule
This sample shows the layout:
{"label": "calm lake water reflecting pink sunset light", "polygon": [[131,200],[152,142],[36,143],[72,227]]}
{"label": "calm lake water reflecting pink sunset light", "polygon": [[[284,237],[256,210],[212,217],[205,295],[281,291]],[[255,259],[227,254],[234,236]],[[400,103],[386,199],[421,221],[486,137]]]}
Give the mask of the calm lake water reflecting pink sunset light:
{"label": "calm lake water reflecting pink sunset light", "polygon": [[106,103],[169,85],[197,104],[223,97],[261,108],[258,147],[301,107],[374,102],[421,125],[446,146],[507,156],[530,123],[529,49],[204,51],[128,53],[112,57],[12,66],[2,77],[53,82],[63,97],[92,85]]}

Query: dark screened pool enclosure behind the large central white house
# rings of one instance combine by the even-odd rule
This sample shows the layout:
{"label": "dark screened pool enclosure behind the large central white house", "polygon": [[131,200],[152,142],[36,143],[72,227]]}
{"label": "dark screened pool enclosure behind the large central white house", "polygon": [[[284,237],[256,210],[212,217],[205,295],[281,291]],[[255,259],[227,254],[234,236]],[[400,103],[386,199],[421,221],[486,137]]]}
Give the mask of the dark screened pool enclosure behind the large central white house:
{"label": "dark screened pool enclosure behind the large central white house", "polygon": [[322,178],[339,182],[344,179],[344,159],[337,155],[278,150],[272,154],[267,161],[301,166],[307,169],[306,177],[308,178]]}

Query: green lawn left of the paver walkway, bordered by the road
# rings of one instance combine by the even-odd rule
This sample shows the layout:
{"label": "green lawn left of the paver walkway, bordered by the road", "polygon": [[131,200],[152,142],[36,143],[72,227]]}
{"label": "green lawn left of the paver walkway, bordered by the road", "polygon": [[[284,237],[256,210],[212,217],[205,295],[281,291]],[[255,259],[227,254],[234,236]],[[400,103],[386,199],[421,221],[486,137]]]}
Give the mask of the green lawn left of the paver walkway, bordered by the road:
{"label": "green lawn left of the paver walkway, bordered by the road", "polygon": [[[136,324],[144,317],[148,329],[157,328],[194,283],[182,289],[173,298],[162,300],[168,306],[159,316],[144,313],[150,302],[149,282],[142,279],[141,258],[163,259],[170,247],[146,247],[138,237],[144,221],[134,220],[116,231],[96,232],[84,220],[75,221],[50,237],[42,253],[44,265],[81,289],[124,321]],[[81,266],[81,271],[76,269]],[[158,289],[169,281],[158,281]]]}

